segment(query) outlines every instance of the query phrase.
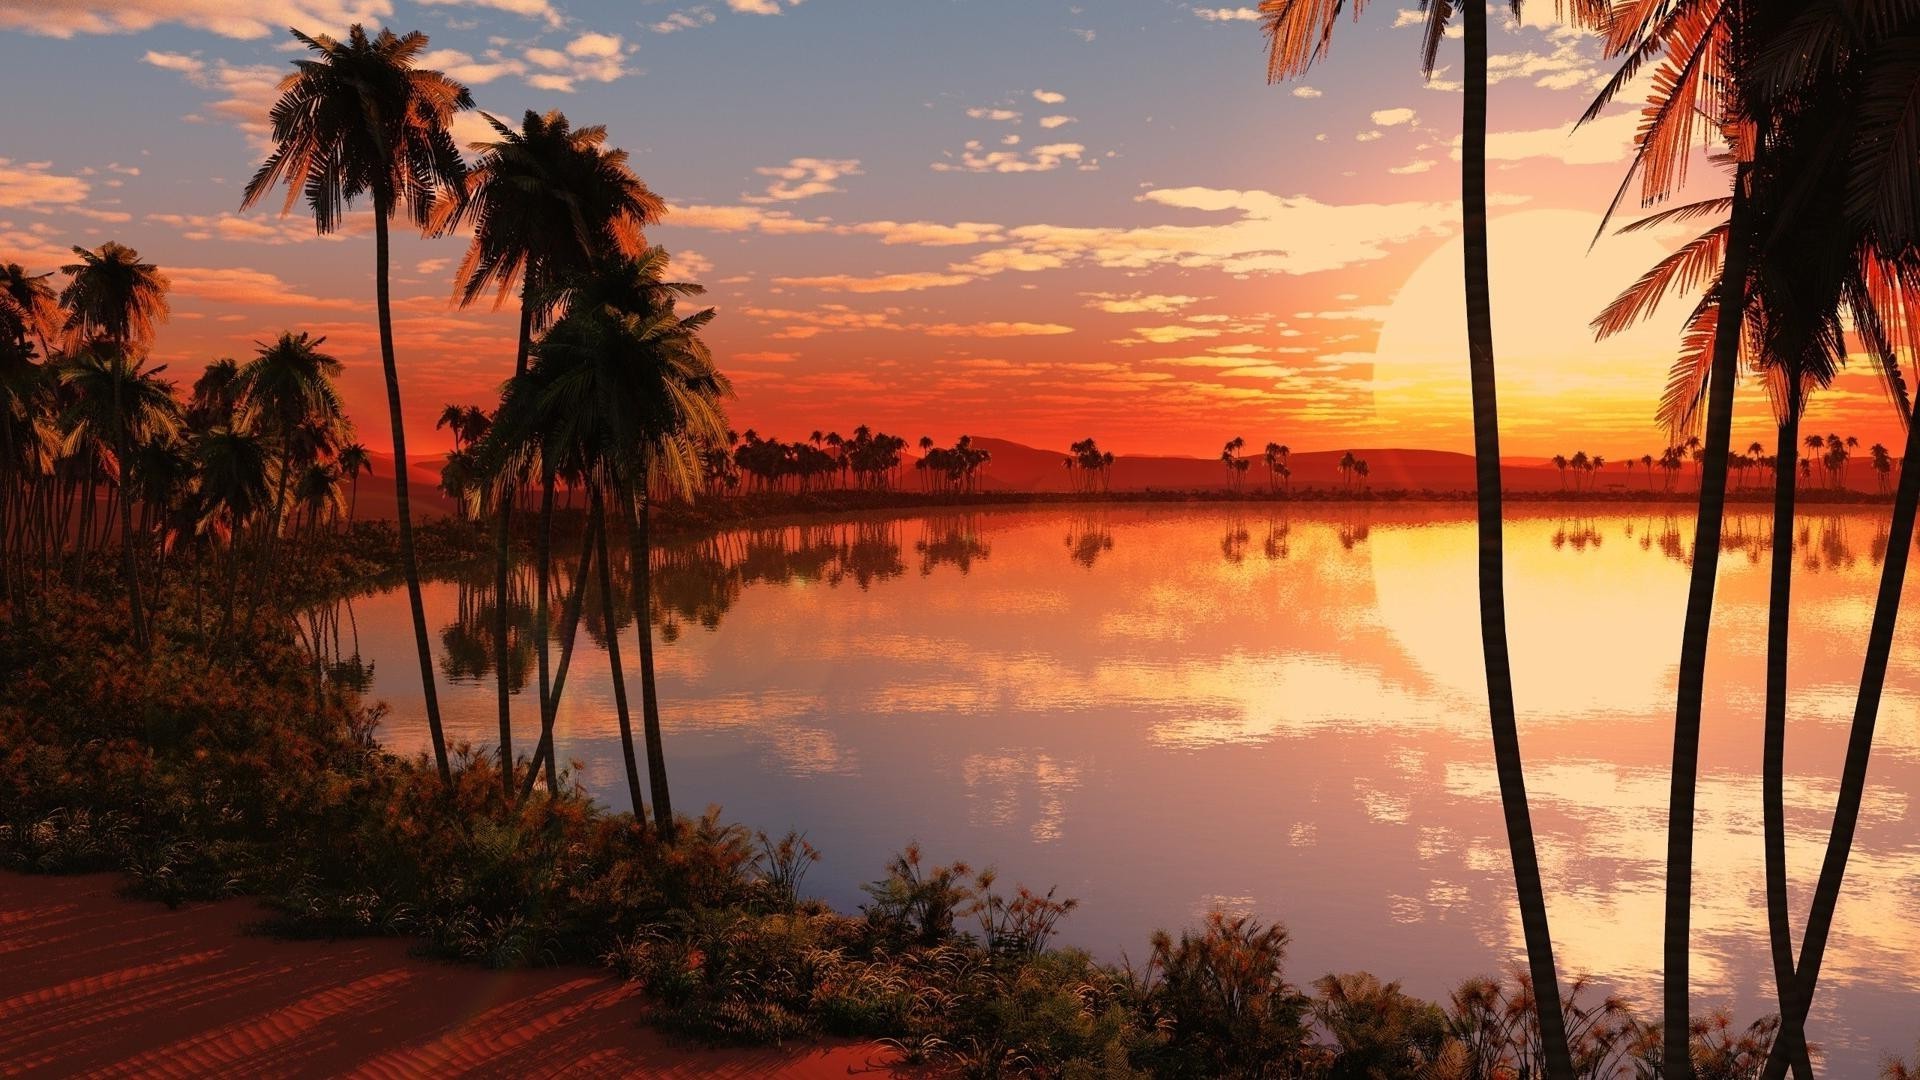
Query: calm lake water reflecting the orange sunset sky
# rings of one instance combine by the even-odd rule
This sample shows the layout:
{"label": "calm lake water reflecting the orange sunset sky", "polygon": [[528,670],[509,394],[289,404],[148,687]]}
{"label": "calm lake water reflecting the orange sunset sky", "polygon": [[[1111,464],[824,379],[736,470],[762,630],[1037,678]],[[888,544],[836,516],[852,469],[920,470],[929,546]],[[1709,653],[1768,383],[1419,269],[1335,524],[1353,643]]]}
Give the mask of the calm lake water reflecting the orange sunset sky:
{"label": "calm lake water reflecting the orange sunset sky", "polygon": [[[1521,955],[1469,509],[981,511],[662,552],[655,634],[674,798],[804,828],[826,851],[808,890],[847,909],[918,840],[939,861],[991,859],[1002,880],[1081,897],[1068,938],[1108,957],[1140,955],[1152,928],[1221,905],[1284,922],[1298,982],[1369,969],[1444,995]],[[1816,515],[1795,538],[1797,911],[1826,842],[1884,517]],[[1728,528],[1695,984],[1713,990],[1703,1007],[1747,1020],[1772,1003],[1759,786],[1768,528],[1761,515]],[[1507,530],[1515,692],[1561,965],[1636,1003],[1659,990],[1690,544],[1692,517],[1667,509],[1523,513]],[[570,577],[570,555],[559,563]],[[484,603],[484,582],[426,592],[449,736],[474,744],[495,738]],[[382,734],[419,749],[405,590],[351,607],[372,694],[394,709]],[[624,809],[601,634],[597,617],[582,626],[561,753]],[[1914,636],[1908,619],[1816,1007],[1836,1074],[1920,1034]],[[532,698],[516,700],[522,753],[538,736]]]}

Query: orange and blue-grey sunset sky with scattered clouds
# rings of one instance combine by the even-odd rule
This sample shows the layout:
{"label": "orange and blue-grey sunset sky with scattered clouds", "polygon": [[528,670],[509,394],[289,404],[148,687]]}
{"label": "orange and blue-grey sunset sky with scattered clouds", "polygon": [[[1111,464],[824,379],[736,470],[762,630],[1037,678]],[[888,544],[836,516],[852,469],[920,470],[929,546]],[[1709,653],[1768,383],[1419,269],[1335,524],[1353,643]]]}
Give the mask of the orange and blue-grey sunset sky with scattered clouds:
{"label": "orange and blue-grey sunset sky with scattered clouds", "polygon": [[[1503,452],[1659,454],[1692,302],[1599,346],[1588,321],[1686,234],[1594,242],[1640,102],[1572,131],[1611,67],[1551,15],[1492,19]],[[154,359],[182,382],[324,334],[363,442],[388,446],[371,217],[317,236],[278,198],[238,209],[286,27],[363,21],[426,33],[480,110],[563,110],[632,154],[670,206],[649,240],[718,309],[737,429],[1469,450],[1459,42],[1425,79],[1413,19],[1371,4],[1269,86],[1256,12],[1179,0],[0,0],[0,259],[138,248],[173,282]],[[1716,188],[1701,158],[1688,190]],[[513,311],[449,304],[465,242],[396,231],[417,455],[513,369]],[[1736,444],[1770,448],[1764,400],[1738,415]],[[1807,423],[1899,438],[1864,369]]]}

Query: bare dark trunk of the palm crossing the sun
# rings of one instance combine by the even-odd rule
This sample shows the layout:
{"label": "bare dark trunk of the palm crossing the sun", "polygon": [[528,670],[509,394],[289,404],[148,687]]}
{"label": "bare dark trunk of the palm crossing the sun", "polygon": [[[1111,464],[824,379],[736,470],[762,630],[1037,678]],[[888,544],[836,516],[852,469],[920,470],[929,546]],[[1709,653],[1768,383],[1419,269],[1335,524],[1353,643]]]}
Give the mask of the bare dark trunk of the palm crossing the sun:
{"label": "bare dark trunk of the palm crossing the sun", "polygon": [[1507,655],[1505,552],[1500,498],[1500,409],[1494,382],[1494,309],[1486,271],[1486,4],[1463,4],[1465,15],[1465,110],[1461,119],[1461,215],[1467,248],[1467,365],[1473,384],[1473,457],[1478,484],[1480,532],[1480,650],[1486,657],[1486,705],[1494,730],[1494,767],[1500,774],[1500,807],[1507,819],[1513,853],[1513,886],[1519,892],[1526,965],[1534,980],[1540,1043],[1551,1080],[1572,1080],[1567,1049],[1567,1017],[1561,1013],[1559,974],[1548,901],[1534,851],[1534,822],[1526,809],[1526,774],[1521,765],[1521,730],[1513,709],[1513,671]]}

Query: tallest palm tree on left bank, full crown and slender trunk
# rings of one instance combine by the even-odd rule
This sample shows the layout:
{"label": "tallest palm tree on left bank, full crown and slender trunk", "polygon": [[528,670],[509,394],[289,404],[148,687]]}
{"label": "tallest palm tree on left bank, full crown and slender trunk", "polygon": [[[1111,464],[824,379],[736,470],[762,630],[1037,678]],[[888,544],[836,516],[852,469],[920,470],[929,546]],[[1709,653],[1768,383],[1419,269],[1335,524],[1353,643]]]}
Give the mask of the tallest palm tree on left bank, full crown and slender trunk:
{"label": "tallest palm tree on left bank, full crown and slender trunk", "polygon": [[394,503],[399,519],[399,559],[407,575],[413,605],[413,640],[420,655],[420,688],[426,724],[434,740],[440,776],[451,782],[447,740],[440,726],[440,696],[434,688],[434,657],[426,636],[426,605],[420,600],[420,565],[413,550],[413,509],[407,498],[407,430],[399,405],[399,365],[394,359],[394,307],[388,296],[388,223],[405,211],[426,227],[434,200],[465,190],[467,163],[449,131],[453,113],[472,108],[467,86],[440,71],[415,67],[426,50],[426,35],[396,37],[380,31],[369,38],[355,23],[348,40],[292,31],[294,40],[317,54],[296,60],[296,71],[280,81],[273,106],[273,154],[253,173],[240,208],[246,209],[269,190],[286,184],[286,208],[301,194],[313,211],[317,233],[340,227],[346,209],[367,196],[372,200],[374,227],[374,306],[380,321],[380,365],[386,375],[386,407],[394,427]]}

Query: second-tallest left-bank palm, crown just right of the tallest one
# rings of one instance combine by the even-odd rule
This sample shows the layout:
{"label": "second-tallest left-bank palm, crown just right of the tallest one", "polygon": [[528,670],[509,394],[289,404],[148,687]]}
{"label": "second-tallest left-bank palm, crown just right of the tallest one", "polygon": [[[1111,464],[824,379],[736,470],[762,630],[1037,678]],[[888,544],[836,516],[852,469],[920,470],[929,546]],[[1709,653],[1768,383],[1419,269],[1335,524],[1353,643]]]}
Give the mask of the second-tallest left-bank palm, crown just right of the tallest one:
{"label": "second-tallest left-bank palm, crown just right of the tallest one", "polygon": [[[474,304],[490,288],[493,306],[505,304],[518,286],[520,334],[513,359],[515,377],[526,373],[534,334],[543,331],[559,294],[553,282],[586,273],[595,258],[637,258],[645,250],[645,227],[666,211],[660,196],[628,167],[626,150],[609,150],[605,127],[574,129],[566,115],[532,110],[515,131],[482,113],[499,133],[495,142],[476,142],[478,160],[467,173],[467,186],[436,206],[432,231],[445,233],[470,221],[474,229],[467,258],[453,275],[453,298],[461,307]],[[495,492],[493,592],[495,592],[495,676],[503,782],[513,784],[513,705],[507,686],[507,569],[513,488],[518,477],[505,477]],[[547,648],[541,640],[540,648]]]}

